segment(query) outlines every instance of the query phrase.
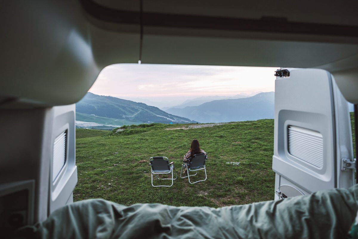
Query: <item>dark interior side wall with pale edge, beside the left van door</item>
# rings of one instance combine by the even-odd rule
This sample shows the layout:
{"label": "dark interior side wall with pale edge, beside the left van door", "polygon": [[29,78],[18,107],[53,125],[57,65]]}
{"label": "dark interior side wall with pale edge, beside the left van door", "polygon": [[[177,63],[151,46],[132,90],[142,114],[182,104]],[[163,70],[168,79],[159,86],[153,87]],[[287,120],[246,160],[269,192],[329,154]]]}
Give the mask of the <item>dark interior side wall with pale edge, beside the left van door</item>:
{"label": "dark interior side wall with pale edge, beside the left van door", "polygon": [[[35,195],[33,220],[44,220],[48,214],[53,111],[51,108],[0,110],[0,115],[0,191],[8,183],[34,180],[34,192],[29,193]],[[0,208],[4,212],[17,209],[16,205],[12,206]]]}

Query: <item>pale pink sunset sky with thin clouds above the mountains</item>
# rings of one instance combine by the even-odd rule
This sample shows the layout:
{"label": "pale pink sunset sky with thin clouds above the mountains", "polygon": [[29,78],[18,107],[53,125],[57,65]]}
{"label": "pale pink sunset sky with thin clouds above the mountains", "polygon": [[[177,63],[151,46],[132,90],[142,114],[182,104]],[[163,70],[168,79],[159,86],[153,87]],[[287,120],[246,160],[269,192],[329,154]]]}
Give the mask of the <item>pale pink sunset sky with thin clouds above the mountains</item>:
{"label": "pale pink sunset sky with thin clouds above the mountains", "polygon": [[[134,101],[181,104],[200,96],[255,95],[275,90],[277,67],[114,64],[89,92]],[[163,107],[163,105],[158,107]]]}

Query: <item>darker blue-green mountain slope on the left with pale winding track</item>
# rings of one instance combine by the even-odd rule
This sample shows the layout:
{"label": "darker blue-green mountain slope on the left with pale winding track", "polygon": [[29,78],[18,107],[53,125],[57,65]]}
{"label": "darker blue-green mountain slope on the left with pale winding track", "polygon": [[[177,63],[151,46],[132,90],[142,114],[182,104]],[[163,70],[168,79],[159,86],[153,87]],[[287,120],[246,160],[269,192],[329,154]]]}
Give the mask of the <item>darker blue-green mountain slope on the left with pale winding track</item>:
{"label": "darker blue-green mountain slope on the left with pale winding track", "polygon": [[95,95],[91,92],[88,92],[83,99],[76,104],[76,111],[92,116],[95,115],[118,120],[133,120],[142,123],[196,123],[190,119],[168,114],[157,107],[148,106],[144,103],[123,100],[112,96]]}

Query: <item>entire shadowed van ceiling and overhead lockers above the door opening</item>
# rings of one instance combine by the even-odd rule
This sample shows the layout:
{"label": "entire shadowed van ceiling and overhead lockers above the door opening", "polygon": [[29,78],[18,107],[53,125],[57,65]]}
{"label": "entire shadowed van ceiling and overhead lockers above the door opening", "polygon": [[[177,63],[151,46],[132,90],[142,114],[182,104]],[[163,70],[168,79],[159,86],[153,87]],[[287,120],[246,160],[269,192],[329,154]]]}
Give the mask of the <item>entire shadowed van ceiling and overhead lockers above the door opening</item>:
{"label": "entire shadowed van ceiling and overhead lockers above the door opening", "polygon": [[322,68],[358,102],[357,9],[350,0],[8,1],[0,97],[11,100],[0,107],[72,104],[103,67],[139,60]]}

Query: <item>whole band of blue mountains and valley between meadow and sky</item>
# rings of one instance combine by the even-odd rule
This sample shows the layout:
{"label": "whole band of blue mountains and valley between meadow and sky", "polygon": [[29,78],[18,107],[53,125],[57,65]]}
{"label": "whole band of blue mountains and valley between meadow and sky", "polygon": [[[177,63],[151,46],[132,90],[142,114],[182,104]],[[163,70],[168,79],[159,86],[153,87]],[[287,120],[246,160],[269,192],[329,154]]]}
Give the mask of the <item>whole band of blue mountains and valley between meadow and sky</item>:
{"label": "whole band of blue mountains and valley between meadow and sky", "polygon": [[274,92],[262,92],[251,97],[200,97],[161,110],[141,102],[88,92],[76,104],[76,127],[112,130],[122,125],[225,123],[270,119],[274,117],[274,96]]}

